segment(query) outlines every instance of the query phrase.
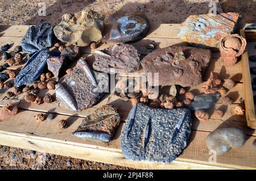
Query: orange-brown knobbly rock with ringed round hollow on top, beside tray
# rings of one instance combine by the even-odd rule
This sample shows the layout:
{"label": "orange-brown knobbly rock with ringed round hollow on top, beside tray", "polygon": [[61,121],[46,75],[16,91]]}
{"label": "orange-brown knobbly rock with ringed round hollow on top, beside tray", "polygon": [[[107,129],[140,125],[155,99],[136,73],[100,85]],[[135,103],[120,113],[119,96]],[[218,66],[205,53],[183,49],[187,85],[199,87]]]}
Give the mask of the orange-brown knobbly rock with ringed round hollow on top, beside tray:
{"label": "orange-brown knobbly rock with ringed round hollow on top, beside tray", "polygon": [[227,35],[221,39],[221,59],[225,66],[232,66],[237,63],[237,58],[245,51],[246,40],[238,35]]}

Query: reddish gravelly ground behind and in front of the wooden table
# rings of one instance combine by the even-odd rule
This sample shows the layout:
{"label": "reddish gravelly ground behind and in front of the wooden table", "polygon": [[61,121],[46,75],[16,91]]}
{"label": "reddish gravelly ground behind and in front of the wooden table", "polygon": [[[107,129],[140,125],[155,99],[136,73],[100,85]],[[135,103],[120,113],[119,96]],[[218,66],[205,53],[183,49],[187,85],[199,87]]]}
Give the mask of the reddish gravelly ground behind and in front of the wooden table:
{"label": "reddish gravelly ground behind and in front of the wooden table", "polygon": [[[242,24],[256,23],[255,0],[212,0],[217,12],[238,12]],[[39,15],[41,4],[46,16]],[[181,23],[189,15],[206,14],[211,0],[0,0],[0,24],[56,25],[65,13],[73,13],[88,6],[105,15],[109,24],[123,14],[146,14],[150,23]],[[41,11],[40,11],[41,12]],[[0,169],[127,169],[98,162],[84,161],[60,155],[0,146]]]}

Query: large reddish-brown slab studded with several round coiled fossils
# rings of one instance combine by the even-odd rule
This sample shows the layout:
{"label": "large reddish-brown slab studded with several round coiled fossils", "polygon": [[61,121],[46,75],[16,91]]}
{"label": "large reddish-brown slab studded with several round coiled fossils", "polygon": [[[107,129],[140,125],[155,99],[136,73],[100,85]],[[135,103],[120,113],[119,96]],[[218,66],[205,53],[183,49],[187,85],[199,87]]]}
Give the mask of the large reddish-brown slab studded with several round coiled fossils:
{"label": "large reddish-brown slab studded with several round coiled fossils", "polygon": [[152,73],[147,77],[151,85],[196,86],[202,82],[210,55],[208,49],[174,45],[147,54],[141,65],[144,72]]}

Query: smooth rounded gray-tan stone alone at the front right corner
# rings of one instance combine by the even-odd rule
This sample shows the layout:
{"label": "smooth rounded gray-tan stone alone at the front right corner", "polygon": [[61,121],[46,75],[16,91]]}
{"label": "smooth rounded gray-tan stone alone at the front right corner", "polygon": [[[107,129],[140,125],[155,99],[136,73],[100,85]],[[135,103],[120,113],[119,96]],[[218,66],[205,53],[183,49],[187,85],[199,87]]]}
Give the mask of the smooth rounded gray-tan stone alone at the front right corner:
{"label": "smooth rounded gray-tan stone alone at the front right corner", "polygon": [[217,128],[207,136],[206,144],[212,153],[225,154],[230,149],[240,148],[245,144],[245,133],[236,127]]}

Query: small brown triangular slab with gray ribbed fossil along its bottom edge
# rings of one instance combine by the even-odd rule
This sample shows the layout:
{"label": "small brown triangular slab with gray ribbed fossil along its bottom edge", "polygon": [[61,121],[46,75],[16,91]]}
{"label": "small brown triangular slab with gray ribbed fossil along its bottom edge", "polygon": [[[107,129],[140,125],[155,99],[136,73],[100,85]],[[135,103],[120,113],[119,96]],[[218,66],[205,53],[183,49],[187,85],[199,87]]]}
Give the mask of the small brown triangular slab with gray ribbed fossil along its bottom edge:
{"label": "small brown triangular slab with gray ribbed fossil along its bottom edge", "polygon": [[109,142],[120,123],[117,109],[104,105],[82,120],[73,136]]}

